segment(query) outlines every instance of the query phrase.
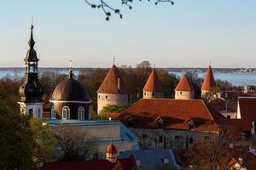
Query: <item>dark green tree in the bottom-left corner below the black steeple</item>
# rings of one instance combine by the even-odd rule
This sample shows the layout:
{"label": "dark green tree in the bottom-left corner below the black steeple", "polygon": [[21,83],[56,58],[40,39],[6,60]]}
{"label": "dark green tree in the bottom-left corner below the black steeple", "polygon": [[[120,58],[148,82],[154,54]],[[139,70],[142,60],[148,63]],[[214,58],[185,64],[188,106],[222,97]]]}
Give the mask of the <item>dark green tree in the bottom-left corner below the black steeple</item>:
{"label": "dark green tree in the bottom-left corner below the black steeple", "polygon": [[18,105],[0,90],[0,169],[36,168],[31,116],[18,113]]}

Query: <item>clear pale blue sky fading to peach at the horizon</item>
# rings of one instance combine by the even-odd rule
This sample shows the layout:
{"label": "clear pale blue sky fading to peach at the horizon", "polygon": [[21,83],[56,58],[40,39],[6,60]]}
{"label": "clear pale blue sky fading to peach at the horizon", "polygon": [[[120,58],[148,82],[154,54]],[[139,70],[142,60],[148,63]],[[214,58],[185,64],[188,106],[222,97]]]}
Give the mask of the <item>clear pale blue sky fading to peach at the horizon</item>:
{"label": "clear pale blue sky fading to peach at the horizon", "polygon": [[24,66],[32,17],[40,67],[256,67],[255,0],[106,2],[122,20],[84,0],[0,0],[0,67]]}

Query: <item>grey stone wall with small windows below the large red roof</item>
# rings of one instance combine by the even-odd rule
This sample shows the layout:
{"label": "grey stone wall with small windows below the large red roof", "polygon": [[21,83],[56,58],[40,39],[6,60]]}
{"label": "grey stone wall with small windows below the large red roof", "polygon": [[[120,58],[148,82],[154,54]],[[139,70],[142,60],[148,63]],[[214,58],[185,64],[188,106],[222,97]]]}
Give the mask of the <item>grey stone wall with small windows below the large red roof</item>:
{"label": "grey stone wall with small windows below the large red roof", "polygon": [[[197,132],[193,130],[131,128],[131,131],[140,139],[141,148],[149,150],[191,149],[193,144],[201,140],[207,140],[212,136],[212,133],[209,132]],[[217,133],[215,132],[215,134]]]}

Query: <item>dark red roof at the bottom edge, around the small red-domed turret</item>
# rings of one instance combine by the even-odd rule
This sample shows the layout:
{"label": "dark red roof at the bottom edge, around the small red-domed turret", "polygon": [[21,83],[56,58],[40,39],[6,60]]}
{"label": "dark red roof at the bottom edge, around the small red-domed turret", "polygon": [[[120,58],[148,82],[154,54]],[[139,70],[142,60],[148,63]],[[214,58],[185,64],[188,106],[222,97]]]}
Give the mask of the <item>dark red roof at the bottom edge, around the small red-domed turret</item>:
{"label": "dark red roof at the bottom edge, around the small red-domed turret", "polygon": [[41,170],[113,170],[118,163],[123,170],[137,169],[134,156],[130,156],[118,159],[116,163],[111,163],[108,160],[50,162],[44,163]]}

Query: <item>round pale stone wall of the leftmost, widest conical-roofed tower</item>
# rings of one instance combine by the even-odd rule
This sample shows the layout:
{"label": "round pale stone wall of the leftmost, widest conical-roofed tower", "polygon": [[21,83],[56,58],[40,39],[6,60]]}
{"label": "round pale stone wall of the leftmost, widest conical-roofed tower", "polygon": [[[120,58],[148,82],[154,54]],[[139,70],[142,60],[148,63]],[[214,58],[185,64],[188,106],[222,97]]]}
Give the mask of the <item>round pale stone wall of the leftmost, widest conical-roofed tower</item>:
{"label": "round pale stone wall of the leftmost, widest conical-roofed tower", "polygon": [[107,105],[128,105],[128,94],[98,94],[98,111]]}

